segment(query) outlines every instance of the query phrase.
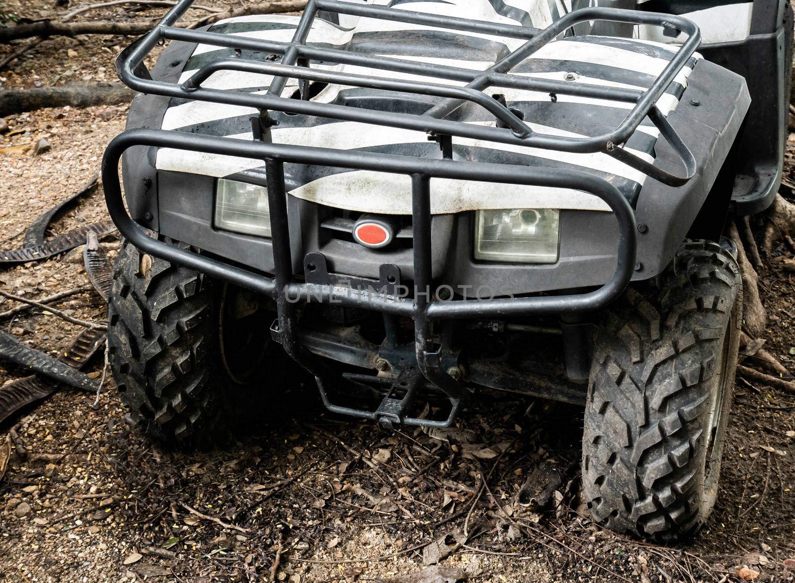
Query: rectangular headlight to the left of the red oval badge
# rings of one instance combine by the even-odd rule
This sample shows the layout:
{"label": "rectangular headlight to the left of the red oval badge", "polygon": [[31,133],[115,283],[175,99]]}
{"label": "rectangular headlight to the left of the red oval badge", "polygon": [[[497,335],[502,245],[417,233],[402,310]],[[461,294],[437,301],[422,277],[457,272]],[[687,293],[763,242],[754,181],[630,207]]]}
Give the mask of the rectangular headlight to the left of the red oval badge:
{"label": "rectangular headlight to the left of the red oval badge", "polygon": [[268,189],[221,178],[215,193],[215,227],[270,237]]}

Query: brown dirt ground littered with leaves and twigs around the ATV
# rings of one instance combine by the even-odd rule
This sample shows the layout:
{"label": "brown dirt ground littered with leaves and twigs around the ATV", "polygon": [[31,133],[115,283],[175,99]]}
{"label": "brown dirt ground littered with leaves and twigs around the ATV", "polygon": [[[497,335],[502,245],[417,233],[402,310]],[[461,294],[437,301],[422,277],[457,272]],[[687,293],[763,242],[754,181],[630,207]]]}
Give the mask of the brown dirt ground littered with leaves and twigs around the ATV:
{"label": "brown dirt ground littered with leaves and twigs around the ATV", "polygon": [[[0,2],[0,12],[21,12],[21,3],[28,11],[52,6]],[[92,14],[128,17],[118,6]],[[112,58],[125,43],[45,41],[0,72],[0,84],[112,80]],[[0,248],[21,246],[29,223],[89,181],[125,114],[126,107],[59,108],[6,119]],[[50,144],[42,154],[3,150],[42,137]],[[795,181],[792,165],[787,171]],[[50,235],[105,218],[99,189]],[[115,235],[104,244],[114,255]],[[767,268],[760,279],[766,348],[793,370],[793,274]],[[87,284],[81,249],[0,270],[0,290],[29,299]],[[14,305],[3,299],[0,312]],[[82,320],[105,318],[93,291],[55,306]],[[0,318],[0,326],[52,354],[80,332],[41,309]],[[100,351],[87,371],[98,378],[102,369]],[[25,374],[0,363],[0,384]],[[0,452],[10,429],[18,436],[8,438],[12,454],[0,478],[0,581],[392,581],[423,569],[438,540],[455,547],[441,565],[469,581],[723,582],[737,581],[743,566],[761,573],[756,581],[795,581],[795,567],[786,566],[795,565],[795,440],[787,434],[795,394],[743,379],[715,511],[691,542],[666,547],[588,519],[579,498],[582,411],[573,406],[483,394],[455,429],[390,432],[326,413],[314,387],[293,377],[266,383],[273,406],[254,435],[184,453],[145,437],[112,380],[105,388],[96,404],[64,388],[0,426]],[[555,474],[551,494],[525,488]],[[553,510],[526,503],[543,495],[553,497]]]}

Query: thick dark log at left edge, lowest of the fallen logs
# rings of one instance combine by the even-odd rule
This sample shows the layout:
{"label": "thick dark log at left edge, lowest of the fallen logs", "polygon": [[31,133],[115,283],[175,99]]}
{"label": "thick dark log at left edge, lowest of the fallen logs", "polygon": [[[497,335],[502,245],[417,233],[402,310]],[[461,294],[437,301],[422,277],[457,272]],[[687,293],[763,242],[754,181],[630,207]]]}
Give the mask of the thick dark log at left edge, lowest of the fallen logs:
{"label": "thick dark log at left edge, lowest of the fallen logs", "polygon": [[122,84],[69,83],[59,87],[9,89],[0,91],[0,117],[42,107],[118,105],[130,103],[134,96],[135,92]]}

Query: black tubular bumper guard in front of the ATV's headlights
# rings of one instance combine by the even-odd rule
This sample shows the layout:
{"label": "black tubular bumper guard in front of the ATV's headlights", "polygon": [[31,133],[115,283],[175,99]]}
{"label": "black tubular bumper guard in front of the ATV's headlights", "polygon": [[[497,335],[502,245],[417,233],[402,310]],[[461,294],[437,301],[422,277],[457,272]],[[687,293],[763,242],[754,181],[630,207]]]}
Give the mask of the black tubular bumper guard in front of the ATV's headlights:
{"label": "black tubular bumper guard in front of the ATV's headlights", "polygon": [[[157,239],[135,223],[126,212],[122,199],[118,163],[122,154],[132,146],[158,146],[190,150],[207,154],[222,154],[259,159],[265,162],[268,200],[270,204],[273,277],[233,266],[192,251],[178,249]],[[287,216],[287,192],[284,164],[323,164],[346,169],[366,169],[375,172],[409,175],[412,183],[412,233],[414,281],[413,297],[397,297],[381,293],[378,282],[366,289],[343,286],[338,282],[312,283],[298,281],[293,275],[293,258],[290,251]],[[619,227],[619,240],[615,271],[610,280],[597,290],[588,293],[543,297],[514,297],[440,301],[431,297],[431,181],[448,178],[470,181],[578,189],[604,200],[611,208]],[[272,297],[277,306],[277,320],[273,336],[285,352],[300,363],[315,378],[329,410],[340,414],[353,414],[363,418],[378,418],[425,426],[448,426],[455,418],[466,386],[444,371],[441,354],[432,342],[432,322],[456,318],[522,317],[531,314],[583,313],[599,309],[626,289],[632,277],[637,251],[634,211],[621,192],[607,181],[576,170],[562,171],[498,164],[469,164],[449,159],[429,160],[394,154],[331,150],[307,146],[289,146],[270,142],[244,142],[229,138],[216,138],[200,134],[180,134],[165,130],[129,130],[114,138],[103,157],[103,185],[111,219],[118,230],[136,247],[146,253],[188,268],[198,270],[211,278],[229,282],[257,293]],[[317,254],[308,254],[304,265],[317,261]],[[382,270],[389,277],[390,269]],[[450,399],[451,413],[444,421],[407,418],[405,406],[382,403],[381,412],[354,410],[334,405],[328,398],[328,387],[335,382],[329,367],[301,346],[297,328],[297,301],[320,301],[343,306],[371,309],[414,321],[417,369],[434,387]],[[407,391],[413,395],[414,391]],[[389,395],[387,398],[391,398]],[[394,400],[394,399],[393,399]],[[385,407],[389,406],[387,410]]]}

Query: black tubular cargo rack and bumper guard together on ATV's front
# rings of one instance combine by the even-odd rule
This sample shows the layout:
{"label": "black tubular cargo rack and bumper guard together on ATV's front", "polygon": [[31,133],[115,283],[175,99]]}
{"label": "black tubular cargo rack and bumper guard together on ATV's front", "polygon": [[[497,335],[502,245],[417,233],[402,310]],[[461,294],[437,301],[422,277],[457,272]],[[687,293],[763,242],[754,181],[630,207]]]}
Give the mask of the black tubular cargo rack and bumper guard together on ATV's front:
{"label": "black tubular cargo rack and bumper guard together on ATV's front", "polygon": [[[188,10],[193,1],[179,0],[152,31],[122,52],[117,62],[118,75],[126,85],[145,94],[252,107],[260,112],[260,115],[252,120],[254,141],[202,134],[184,134],[167,130],[128,130],[111,142],[103,158],[103,184],[108,210],[122,235],[142,251],[164,258],[169,262],[199,270],[212,278],[231,282],[273,297],[277,305],[277,320],[271,329],[273,338],[283,345],[289,356],[301,363],[316,377],[324,403],[332,411],[378,419],[386,425],[390,425],[392,422],[401,422],[409,425],[448,426],[455,418],[461,400],[467,394],[467,388],[444,370],[440,347],[433,342],[433,321],[443,318],[500,318],[544,313],[582,313],[607,305],[618,297],[630,282],[637,250],[635,217],[630,203],[616,189],[615,185],[576,169],[549,169],[452,160],[452,141],[456,137],[573,153],[603,152],[667,185],[683,185],[696,173],[694,157],[656,105],[657,100],[661,98],[681,70],[687,66],[688,60],[700,44],[698,27],[684,18],[635,10],[585,8],[561,17],[546,29],[534,29],[522,25],[475,21],[460,17],[423,14],[410,10],[391,10],[340,0],[309,0],[297,25],[293,40],[281,42],[176,27],[176,21]],[[520,39],[525,42],[485,70],[421,63],[350,50],[328,49],[306,43],[312,22],[321,10],[327,14],[347,14],[442,29],[486,33]],[[615,21],[634,25],[656,25],[663,27],[669,33],[687,33],[688,40],[645,91],[591,84],[570,84],[564,81],[531,78],[510,73],[512,68],[533,55],[533,52],[554,41],[582,21]],[[247,60],[239,56],[238,58],[215,60],[204,65],[181,84],[167,83],[153,80],[142,64],[149,52],[158,43],[165,41],[215,45],[234,49],[237,54],[243,50],[271,53],[276,60],[281,56],[281,62]],[[459,87],[431,81],[395,80],[381,76],[329,72],[308,66],[313,60],[333,64],[359,65],[385,72],[405,72],[431,79],[456,81],[465,85]],[[273,76],[273,81],[265,94],[202,87],[202,83],[209,76],[219,71],[268,74]],[[281,93],[290,78],[299,80],[302,95],[308,82],[317,81],[429,95],[439,98],[439,100],[423,115],[374,111],[334,103],[316,103],[308,99],[282,97]],[[557,136],[531,130],[523,119],[514,115],[503,103],[483,92],[489,87],[544,91],[553,97],[555,95],[576,95],[594,99],[612,99],[624,103],[634,103],[634,105],[621,124],[608,134],[587,138]],[[446,119],[448,115],[467,102],[475,103],[489,111],[497,120],[497,126],[479,126]],[[391,126],[426,132],[440,142],[442,157],[441,159],[429,159],[397,154],[276,144],[270,140],[269,111],[313,115],[328,119],[364,122],[374,126]],[[681,158],[685,170],[683,177],[667,173],[622,148],[622,144],[626,143],[647,117],[657,126],[661,136],[669,142]],[[262,274],[234,266],[217,258],[178,249],[150,237],[143,227],[130,218],[122,200],[118,162],[123,152],[132,146],[172,148],[264,161],[272,228],[273,274]],[[324,262],[308,261],[306,258],[303,262],[305,278],[294,277],[286,207],[285,163],[367,169],[411,177],[413,294],[409,297],[398,297],[394,293],[395,286],[400,284],[400,273],[396,266],[390,265],[382,266],[382,274],[385,274],[383,281],[357,280],[358,288],[349,285],[350,277],[328,273],[325,270]],[[599,197],[611,208],[619,226],[614,274],[602,287],[587,293],[452,301],[440,301],[438,298],[432,297],[430,293],[432,284],[430,200],[433,178],[560,187],[588,192]],[[323,270],[318,268],[321,265],[324,267]],[[319,273],[321,271],[323,273]],[[343,282],[347,282],[347,284],[343,284]],[[390,398],[393,391],[390,391],[382,406],[376,411],[334,405],[330,401],[327,391],[329,384],[336,382],[334,375],[327,370],[324,363],[308,353],[302,346],[295,309],[297,300],[336,303],[411,317],[414,321],[416,340],[414,357],[416,360],[410,365],[417,367],[424,379],[448,396],[451,402],[448,418],[440,421],[409,418],[406,416],[406,411],[409,410],[410,403],[405,400],[398,403],[394,398]],[[411,396],[413,394],[414,391],[407,391],[405,399],[413,398]]]}

